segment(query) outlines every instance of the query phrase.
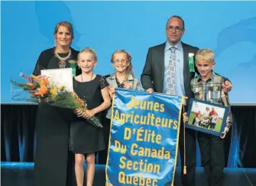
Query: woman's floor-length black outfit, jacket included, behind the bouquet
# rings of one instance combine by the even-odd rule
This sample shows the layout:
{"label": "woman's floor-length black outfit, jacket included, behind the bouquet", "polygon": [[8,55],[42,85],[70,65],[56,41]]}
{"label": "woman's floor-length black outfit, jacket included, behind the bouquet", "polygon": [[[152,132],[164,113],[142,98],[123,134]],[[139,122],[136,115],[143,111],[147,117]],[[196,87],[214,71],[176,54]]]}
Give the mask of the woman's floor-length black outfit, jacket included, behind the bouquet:
{"label": "woman's floor-length black outfit, jacket included, behind the bouquet", "polygon": [[[53,51],[54,49],[49,49],[41,53],[34,75],[39,75],[40,69],[59,69],[59,60],[53,55]],[[77,53],[76,50],[72,50],[70,59],[76,60]],[[64,57],[67,53],[60,55]],[[66,67],[70,67],[68,62],[66,62]],[[76,70],[76,72],[80,73],[79,70]],[[36,119],[37,139],[34,160],[34,184],[36,186],[72,185],[72,164],[68,168],[69,158],[71,157],[69,156],[68,146],[72,119],[73,111],[71,110],[53,107],[48,104],[39,104]],[[70,162],[72,160],[70,158]]]}

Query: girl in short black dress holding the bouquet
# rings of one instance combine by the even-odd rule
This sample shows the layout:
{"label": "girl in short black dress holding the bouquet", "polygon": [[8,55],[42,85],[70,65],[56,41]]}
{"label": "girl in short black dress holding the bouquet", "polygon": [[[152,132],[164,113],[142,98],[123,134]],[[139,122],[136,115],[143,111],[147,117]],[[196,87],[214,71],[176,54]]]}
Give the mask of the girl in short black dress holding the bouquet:
{"label": "girl in short black dress holding the bouquet", "polygon": [[[92,186],[95,172],[96,152],[105,149],[102,128],[93,127],[86,118],[96,116],[100,119],[100,112],[110,106],[108,84],[101,75],[93,73],[96,66],[96,52],[90,48],[82,50],[78,55],[78,66],[82,74],[74,78],[74,91],[86,101],[89,112],[76,110],[78,116],[71,124],[70,150],[75,153],[75,172],[77,186],[83,186],[84,168],[87,163],[87,186]],[[102,103],[103,99],[103,103]]]}

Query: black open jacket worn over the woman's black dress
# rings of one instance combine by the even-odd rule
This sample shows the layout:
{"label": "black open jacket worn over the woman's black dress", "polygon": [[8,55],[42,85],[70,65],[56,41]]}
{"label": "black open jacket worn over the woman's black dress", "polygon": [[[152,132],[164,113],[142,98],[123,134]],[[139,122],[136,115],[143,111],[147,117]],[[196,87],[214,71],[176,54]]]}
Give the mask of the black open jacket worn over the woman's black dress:
{"label": "black open jacket worn over the woman's black dress", "polygon": [[[71,50],[71,59],[77,60],[77,56],[79,51],[74,50],[73,48],[70,48]],[[44,50],[43,52],[41,52],[40,56],[37,59],[37,64],[34,67],[34,72],[33,75],[40,75],[41,73],[41,69],[47,69],[48,63],[50,62],[50,59],[53,57],[54,55],[54,51],[55,51],[55,47]],[[78,68],[78,66],[76,66],[76,75],[81,74],[82,71],[81,69]]]}

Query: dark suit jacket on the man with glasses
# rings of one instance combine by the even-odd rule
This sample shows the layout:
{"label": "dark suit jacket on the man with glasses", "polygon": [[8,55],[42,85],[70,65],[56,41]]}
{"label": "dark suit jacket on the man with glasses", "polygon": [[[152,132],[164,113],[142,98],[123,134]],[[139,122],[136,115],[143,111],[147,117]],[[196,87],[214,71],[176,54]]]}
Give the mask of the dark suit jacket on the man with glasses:
{"label": "dark suit jacket on the man with glasses", "polygon": [[[183,47],[183,75],[185,94],[189,98],[193,98],[193,91],[190,88],[191,79],[195,76],[195,72],[190,72],[188,56],[194,53],[194,60],[198,47],[190,46],[182,43]],[[141,84],[145,90],[153,88],[154,91],[163,93],[164,88],[164,48],[166,43],[149,48],[147,59],[141,74]],[[195,66],[196,70],[196,66]],[[196,70],[197,72],[197,70]]]}

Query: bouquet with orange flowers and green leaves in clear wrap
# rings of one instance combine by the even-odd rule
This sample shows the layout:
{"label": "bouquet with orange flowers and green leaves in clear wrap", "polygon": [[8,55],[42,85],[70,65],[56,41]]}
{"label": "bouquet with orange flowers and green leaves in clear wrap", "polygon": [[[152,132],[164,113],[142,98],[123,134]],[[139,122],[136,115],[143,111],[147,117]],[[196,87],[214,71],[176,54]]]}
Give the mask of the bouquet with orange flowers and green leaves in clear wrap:
{"label": "bouquet with orange flowers and green leaves in clear wrap", "polygon": [[[47,78],[37,78],[34,75],[30,77],[20,73],[20,76],[26,80],[24,83],[18,83],[11,79],[11,83],[22,88],[31,94],[31,98],[26,101],[33,103],[44,102],[56,107],[64,107],[75,110],[79,108],[80,111],[89,112],[85,101],[79,98],[73,91],[67,91],[64,86],[57,87],[49,83]],[[99,119],[95,116],[90,117],[89,123],[95,127],[102,127]]]}

